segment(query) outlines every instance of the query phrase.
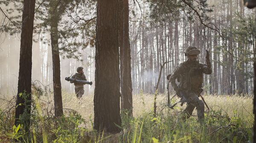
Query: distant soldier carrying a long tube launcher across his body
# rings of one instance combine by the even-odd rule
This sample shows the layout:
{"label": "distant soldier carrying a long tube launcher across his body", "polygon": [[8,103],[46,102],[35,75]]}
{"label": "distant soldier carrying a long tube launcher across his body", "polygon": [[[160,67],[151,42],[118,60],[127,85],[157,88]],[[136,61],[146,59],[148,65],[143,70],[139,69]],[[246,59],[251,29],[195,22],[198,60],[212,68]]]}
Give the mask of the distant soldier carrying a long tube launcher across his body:
{"label": "distant soldier carrying a long tube launcher across his body", "polygon": [[[78,79],[78,80],[84,80],[87,81],[85,75],[84,75],[84,71],[83,71],[83,67],[77,67],[76,71],[77,73],[75,75],[73,75],[71,78],[72,79]],[[70,81],[70,83],[74,83],[75,84],[75,93],[76,93],[76,97],[77,98],[81,98],[84,94],[84,84],[80,84],[80,83],[76,83],[76,81]]]}

